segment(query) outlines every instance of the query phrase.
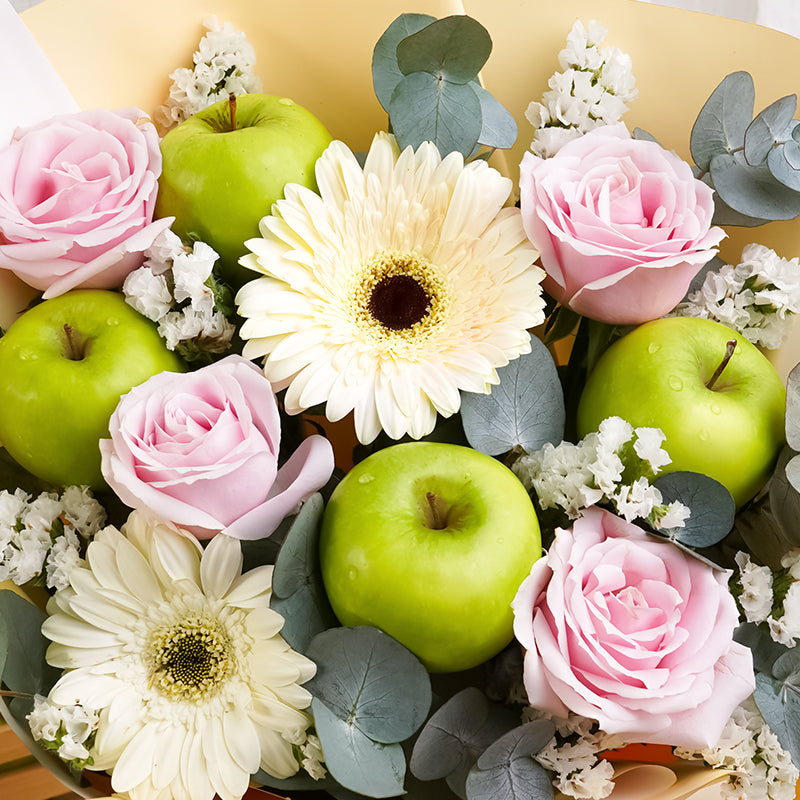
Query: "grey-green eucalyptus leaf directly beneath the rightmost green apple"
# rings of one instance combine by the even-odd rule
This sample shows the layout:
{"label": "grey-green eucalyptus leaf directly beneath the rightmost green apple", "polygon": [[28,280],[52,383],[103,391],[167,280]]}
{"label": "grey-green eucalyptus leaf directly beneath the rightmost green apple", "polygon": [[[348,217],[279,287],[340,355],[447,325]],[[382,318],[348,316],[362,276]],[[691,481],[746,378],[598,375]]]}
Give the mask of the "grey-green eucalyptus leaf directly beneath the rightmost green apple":
{"label": "grey-green eucalyptus leaf directly beneath the rightmost green apple", "polygon": [[691,511],[683,528],[670,531],[672,538],[690,547],[711,547],[733,528],[736,503],[717,480],[699,472],[669,472],[659,475],[653,485],[665,503],[683,503]]}

